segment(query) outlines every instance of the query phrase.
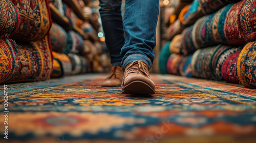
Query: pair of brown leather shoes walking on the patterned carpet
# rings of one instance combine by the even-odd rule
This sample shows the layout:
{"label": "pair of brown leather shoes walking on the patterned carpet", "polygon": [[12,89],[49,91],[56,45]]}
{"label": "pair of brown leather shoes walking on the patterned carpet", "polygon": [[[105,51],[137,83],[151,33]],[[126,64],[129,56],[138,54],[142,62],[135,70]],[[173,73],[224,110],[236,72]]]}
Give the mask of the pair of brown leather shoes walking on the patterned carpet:
{"label": "pair of brown leather shoes walking on the patterned carpet", "polygon": [[125,94],[155,94],[155,83],[150,78],[148,66],[144,61],[134,61],[123,71],[120,66],[113,66],[102,86],[121,86]]}

